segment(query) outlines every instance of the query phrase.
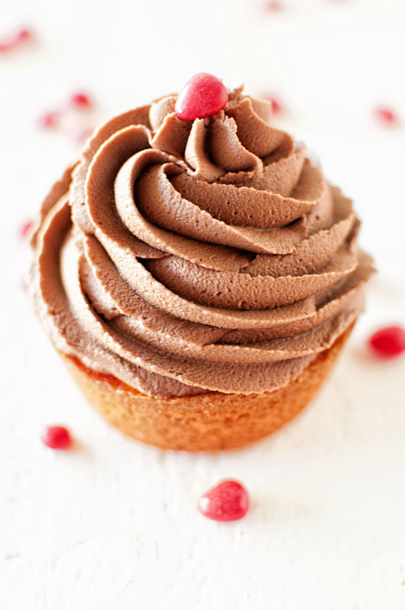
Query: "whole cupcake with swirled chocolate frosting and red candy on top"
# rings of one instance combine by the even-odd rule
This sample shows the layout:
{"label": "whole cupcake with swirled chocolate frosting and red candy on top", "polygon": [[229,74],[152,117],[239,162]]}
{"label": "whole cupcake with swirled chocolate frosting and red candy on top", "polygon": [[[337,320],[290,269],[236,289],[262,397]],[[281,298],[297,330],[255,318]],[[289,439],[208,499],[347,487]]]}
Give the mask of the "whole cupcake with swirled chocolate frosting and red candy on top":
{"label": "whole cupcake with swirled chocolate frosting and red candy on top", "polygon": [[104,124],[42,204],[35,309],[127,436],[187,451],[267,436],[364,308],[352,202],[270,115],[199,74]]}

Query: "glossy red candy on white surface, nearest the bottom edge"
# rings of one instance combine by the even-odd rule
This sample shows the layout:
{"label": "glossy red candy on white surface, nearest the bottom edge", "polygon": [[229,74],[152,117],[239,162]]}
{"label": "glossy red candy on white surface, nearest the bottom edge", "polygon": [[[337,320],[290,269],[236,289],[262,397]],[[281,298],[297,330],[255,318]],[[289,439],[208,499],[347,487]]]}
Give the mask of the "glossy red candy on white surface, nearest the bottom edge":
{"label": "glossy red candy on white surface, nearest the bottom edge", "polygon": [[249,495],[242,483],[224,479],[199,499],[199,511],[214,521],[236,521],[249,510]]}

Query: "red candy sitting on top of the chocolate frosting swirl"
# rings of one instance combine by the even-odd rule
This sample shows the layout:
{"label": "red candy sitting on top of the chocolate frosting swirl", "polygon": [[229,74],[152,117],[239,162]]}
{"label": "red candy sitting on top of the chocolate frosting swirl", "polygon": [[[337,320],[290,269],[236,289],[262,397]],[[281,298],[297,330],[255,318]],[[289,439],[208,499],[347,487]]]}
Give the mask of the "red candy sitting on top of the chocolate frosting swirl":
{"label": "red candy sitting on top of the chocolate frosting swirl", "polygon": [[228,102],[228,91],[216,76],[195,74],[180,91],[176,100],[176,115],[184,121],[209,117]]}

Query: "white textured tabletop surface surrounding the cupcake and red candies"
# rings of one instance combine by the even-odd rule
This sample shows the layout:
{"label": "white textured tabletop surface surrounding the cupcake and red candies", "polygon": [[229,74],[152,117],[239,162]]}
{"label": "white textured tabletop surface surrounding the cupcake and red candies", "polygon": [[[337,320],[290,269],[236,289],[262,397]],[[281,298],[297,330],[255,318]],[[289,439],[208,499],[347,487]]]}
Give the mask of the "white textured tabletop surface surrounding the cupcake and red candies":
{"label": "white textured tabletop surface surrounding the cupcake and red candies", "polygon": [[[266,17],[253,0],[143,4],[2,7],[4,29],[27,18],[42,43],[0,59],[0,608],[401,610],[405,361],[378,365],[359,345],[375,325],[405,323],[405,132],[370,115],[387,101],[405,118],[403,3],[285,0],[285,15]],[[354,196],[382,269],[312,406],[271,439],[216,456],[131,442],[85,403],[21,293],[29,254],[15,238],[73,157],[37,131],[38,113],[86,86],[110,114],[199,70],[284,96],[281,124]],[[41,445],[54,422],[70,426],[76,451]],[[246,484],[251,511],[210,522],[196,501],[226,476]]]}

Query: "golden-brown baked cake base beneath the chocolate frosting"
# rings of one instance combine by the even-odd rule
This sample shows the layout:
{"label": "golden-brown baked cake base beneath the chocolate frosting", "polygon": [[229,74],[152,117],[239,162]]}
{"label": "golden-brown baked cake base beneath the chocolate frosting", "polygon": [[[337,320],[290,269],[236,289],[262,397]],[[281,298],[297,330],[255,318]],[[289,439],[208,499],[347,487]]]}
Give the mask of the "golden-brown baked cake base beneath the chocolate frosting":
{"label": "golden-brown baked cake base beneath the chocolate frosting", "polygon": [[208,392],[155,398],[112,375],[85,367],[76,357],[61,355],[88,401],[126,436],[162,449],[238,449],[275,432],[304,409],[331,370],[353,326],[298,378],[262,394]]}

